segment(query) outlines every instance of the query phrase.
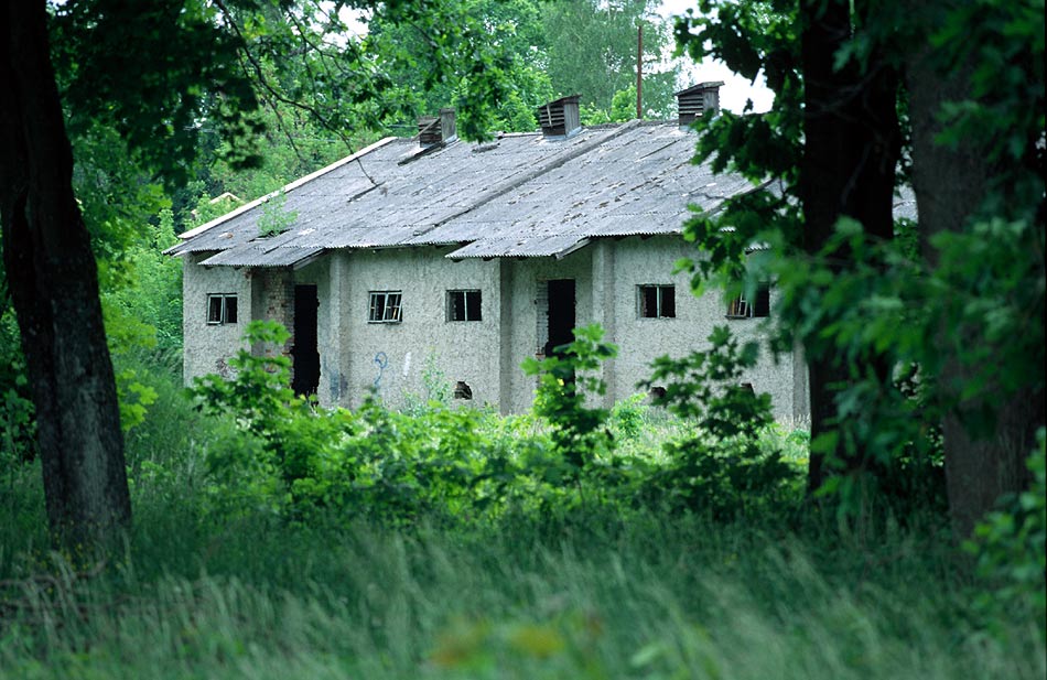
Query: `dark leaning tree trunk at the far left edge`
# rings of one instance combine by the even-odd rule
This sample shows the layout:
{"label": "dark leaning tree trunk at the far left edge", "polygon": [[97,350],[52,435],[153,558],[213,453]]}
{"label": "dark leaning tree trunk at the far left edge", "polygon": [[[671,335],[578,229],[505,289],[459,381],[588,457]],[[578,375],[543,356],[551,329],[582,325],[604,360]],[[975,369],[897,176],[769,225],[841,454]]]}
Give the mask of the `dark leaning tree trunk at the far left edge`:
{"label": "dark leaning tree trunk at the far left edge", "polygon": [[43,0],[0,9],[3,261],[33,386],[47,519],[66,546],[130,520],[123,439]]}

